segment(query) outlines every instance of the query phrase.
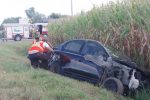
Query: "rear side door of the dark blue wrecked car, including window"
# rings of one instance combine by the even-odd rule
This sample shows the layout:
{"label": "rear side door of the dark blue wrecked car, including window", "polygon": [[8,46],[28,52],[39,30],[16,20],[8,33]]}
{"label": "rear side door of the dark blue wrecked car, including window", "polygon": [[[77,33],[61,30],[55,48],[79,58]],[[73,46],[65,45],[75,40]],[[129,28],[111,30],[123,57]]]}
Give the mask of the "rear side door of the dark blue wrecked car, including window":
{"label": "rear side door of the dark blue wrecked car, including window", "polygon": [[79,68],[76,66],[80,66],[80,62],[74,63],[83,59],[81,51],[84,45],[85,41],[83,40],[71,40],[62,46],[61,55],[65,55],[71,60],[70,63],[62,67],[65,74],[73,76],[78,73],[77,69],[79,70]]}

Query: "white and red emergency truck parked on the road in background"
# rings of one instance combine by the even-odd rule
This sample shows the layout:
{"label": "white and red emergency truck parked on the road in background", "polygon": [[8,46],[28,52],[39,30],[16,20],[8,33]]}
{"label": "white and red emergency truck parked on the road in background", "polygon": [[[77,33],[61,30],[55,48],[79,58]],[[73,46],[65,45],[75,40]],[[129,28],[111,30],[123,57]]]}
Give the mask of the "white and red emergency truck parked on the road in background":
{"label": "white and red emergency truck parked on the road in background", "polygon": [[7,40],[21,41],[21,39],[31,39],[37,31],[41,34],[48,34],[48,23],[8,23],[3,24],[4,37]]}

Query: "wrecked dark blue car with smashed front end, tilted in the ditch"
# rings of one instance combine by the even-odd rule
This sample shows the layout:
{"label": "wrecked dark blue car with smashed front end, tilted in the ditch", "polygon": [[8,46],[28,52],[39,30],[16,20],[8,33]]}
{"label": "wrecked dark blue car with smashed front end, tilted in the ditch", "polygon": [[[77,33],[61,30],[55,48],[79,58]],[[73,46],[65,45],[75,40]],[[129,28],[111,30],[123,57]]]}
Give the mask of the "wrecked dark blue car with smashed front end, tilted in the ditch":
{"label": "wrecked dark blue car with smashed front end, tilted in the ditch", "polygon": [[90,39],[69,40],[57,46],[49,69],[123,95],[148,83],[134,62],[113,55],[99,41]]}

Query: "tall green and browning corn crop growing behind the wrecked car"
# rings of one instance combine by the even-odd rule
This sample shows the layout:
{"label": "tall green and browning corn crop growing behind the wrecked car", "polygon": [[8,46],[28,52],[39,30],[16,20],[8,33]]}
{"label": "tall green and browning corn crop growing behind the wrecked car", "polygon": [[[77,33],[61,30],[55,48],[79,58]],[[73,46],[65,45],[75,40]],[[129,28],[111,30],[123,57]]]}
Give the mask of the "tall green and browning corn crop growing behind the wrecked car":
{"label": "tall green and browning corn crop growing behind the wrecked car", "polygon": [[126,0],[50,23],[49,32],[55,43],[72,38],[101,41],[131,57],[139,67],[150,68],[149,27],[150,1]]}

